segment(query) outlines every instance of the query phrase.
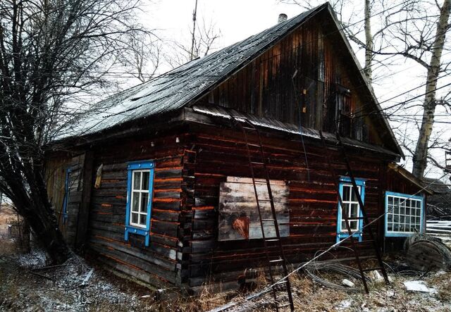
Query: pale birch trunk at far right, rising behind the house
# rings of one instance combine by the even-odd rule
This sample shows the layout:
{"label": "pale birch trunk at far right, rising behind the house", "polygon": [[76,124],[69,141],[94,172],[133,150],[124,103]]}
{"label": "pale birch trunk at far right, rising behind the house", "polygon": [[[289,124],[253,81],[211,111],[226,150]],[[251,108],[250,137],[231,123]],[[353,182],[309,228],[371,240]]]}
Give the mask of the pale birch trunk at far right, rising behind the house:
{"label": "pale birch trunk at far right, rising behind the house", "polygon": [[413,158],[414,168],[412,173],[419,178],[424,176],[424,170],[426,169],[428,162],[428,143],[431,138],[435,107],[437,106],[435,89],[437,87],[438,75],[440,74],[440,58],[442,57],[443,46],[445,45],[445,36],[447,30],[450,28],[450,9],[451,0],[445,0],[440,10],[440,18],[435,30],[431,62],[428,66],[428,74],[426,77],[426,96],[423,104],[423,119],[421,120],[421,128],[418,141],[416,142],[415,154]]}

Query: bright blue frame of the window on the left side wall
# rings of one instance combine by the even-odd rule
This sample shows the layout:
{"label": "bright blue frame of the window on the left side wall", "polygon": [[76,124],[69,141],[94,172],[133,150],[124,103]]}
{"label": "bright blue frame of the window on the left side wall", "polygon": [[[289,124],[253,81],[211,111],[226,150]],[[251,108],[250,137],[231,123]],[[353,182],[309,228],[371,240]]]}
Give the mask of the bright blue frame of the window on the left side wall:
{"label": "bright blue frame of the window on the left side wall", "polygon": [[[131,214],[131,196],[132,196],[132,176],[134,170],[149,170],[149,203],[147,204],[146,227],[136,227],[130,224]],[[128,163],[127,179],[127,208],[125,211],[125,234],[124,239],[128,241],[130,233],[144,236],[144,244],[149,247],[150,242],[150,224],[152,218],[152,200],[154,195],[154,161],[132,161]]]}

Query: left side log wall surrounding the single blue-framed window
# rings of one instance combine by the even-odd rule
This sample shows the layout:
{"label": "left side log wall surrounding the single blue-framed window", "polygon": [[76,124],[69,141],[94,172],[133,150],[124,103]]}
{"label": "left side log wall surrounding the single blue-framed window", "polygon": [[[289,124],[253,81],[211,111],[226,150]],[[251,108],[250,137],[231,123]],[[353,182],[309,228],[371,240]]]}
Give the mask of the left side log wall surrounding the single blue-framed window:
{"label": "left side log wall surrounding the single blue-framed window", "polygon": [[[183,234],[180,210],[186,204],[182,190],[183,166],[187,166],[184,161],[189,159],[186,139],[187,135],[135,138],[94,150],[92,185],[97,168],[102,163],[104,166],[101,185],[91,194],[89,249],[108,266],[151,285],[180,282],[183,256],[178,236]],[[144,246],[144,237],[139,235],[130,235],[129,242],[124,240],[127,163],[139,160],[155,161],[149,247]]]}

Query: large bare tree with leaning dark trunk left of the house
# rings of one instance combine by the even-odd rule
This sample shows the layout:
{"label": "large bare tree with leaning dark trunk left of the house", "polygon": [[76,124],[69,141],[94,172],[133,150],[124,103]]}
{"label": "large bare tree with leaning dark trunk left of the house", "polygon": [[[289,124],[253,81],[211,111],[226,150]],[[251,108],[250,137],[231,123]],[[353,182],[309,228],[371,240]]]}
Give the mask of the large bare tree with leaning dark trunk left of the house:
{"label": "large bare tree with leaning dark trunk left of the house", "polygon": [[68,247],[44,182],[44,147],[101,92],[136,23],[135,0],[0,1],[0,192],[13,201],[49,256]]}

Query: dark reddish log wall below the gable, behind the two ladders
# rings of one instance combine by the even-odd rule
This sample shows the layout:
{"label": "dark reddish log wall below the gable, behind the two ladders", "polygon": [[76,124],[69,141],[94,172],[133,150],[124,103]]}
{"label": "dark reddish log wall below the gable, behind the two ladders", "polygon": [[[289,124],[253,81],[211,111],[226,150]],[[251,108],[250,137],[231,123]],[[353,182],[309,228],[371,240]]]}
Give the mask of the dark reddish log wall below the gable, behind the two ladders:
{"label": "dark reddish log wall below the gable, behind the two ladders", "polygon": [[[290,236],[283,237],[283,244],[292,263],[299,263],[335,243],[338,199],[333,179],[338,177],[331,177],[326,153],[333,159],[336,173],[347,175],[338,151],[326,152],[318,142],[306,144],[308,168],[299,142],[264,138],[271,179],[286,180],[290,187]],[[261,239],[217,241],[219,184],[227,176],[249,177],[245,144],[240,132],[200,127],[195,136],[195,149],[195,205],[190,249],[187,249],[190,253],[187,282],[195,288],[206,282],[208,275],[211,282],[221,280],[223,287],[227,283],[234,287],[245,269],[259,266],[265,259]],[[257,155],[257,149],[252,149]],[[379,215],[383,204],[380,196],[383,163],[363,151],[348,153],[354,175],[366,179],[365,206],[371,220]],[[257,177],[262,177],[258,170]],[[352,255],[345,249],[337,254]]]}

